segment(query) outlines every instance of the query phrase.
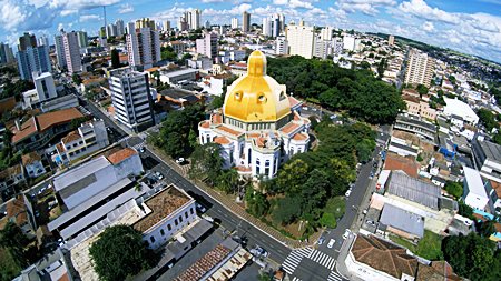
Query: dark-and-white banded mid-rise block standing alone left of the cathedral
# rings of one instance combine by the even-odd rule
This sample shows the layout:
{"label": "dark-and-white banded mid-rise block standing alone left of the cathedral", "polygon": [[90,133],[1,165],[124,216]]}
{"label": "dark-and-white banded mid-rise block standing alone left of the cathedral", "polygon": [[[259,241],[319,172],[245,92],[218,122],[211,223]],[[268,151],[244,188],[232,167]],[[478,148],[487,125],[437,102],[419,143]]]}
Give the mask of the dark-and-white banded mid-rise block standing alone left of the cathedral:
{"label": "dark-and-white banded mid-rise block standing alone left of the cathedral", "polygon": [[154,124],[153,99],[148,74],[132,68],[110,71],[109,87],[115,119],[131,131],[141,131]]}

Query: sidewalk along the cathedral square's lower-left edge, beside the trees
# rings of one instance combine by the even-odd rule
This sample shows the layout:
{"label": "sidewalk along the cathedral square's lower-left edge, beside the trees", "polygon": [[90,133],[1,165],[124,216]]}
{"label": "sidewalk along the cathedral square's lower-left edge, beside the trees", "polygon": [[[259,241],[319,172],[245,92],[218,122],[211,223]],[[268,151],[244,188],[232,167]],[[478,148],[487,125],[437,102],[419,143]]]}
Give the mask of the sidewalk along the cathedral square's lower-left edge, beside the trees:
{"label": "sidewalk along the cathedral square's lower-left edge, beside the trees", "polygon": [[239,204],[235,203],[233,200],[229,200],[228,198],[222,195],[216,190],[207,187],[204,182],[193,180],[188,178],[187,169],[181,169],[177,163],[175,163],[169,157],[167,157],[163,151],[159,151],[157,148],[147,145],[148,149],[157,155],[160,160],[163,160],[168,167],[177,171],[179,174],[184,175],[188,181],[190,181],[195,187],[204,191],[207,195],[209,195],[212,199],[224,205],[228,211],[234,213],[235,215],[239,217],[240,219],[245,220],[246,222],[253,224],[258,230],[263,231],[265,234],[269,235],[271,238],[275,239],[277,242],[291,248],[291,249],[297,249],[297,248],[304,248],[304,247],[311,247],[315,243],[315,241],[320,238],[321,232],[314,233],[308,241],[313,241],[312,243],[307,242],[299,242],[297,240],[287,238],[283,235],[278,230],[274,229],[273,227],[267,225],[266,223],[262,222],[257,218],[253,217],[252,214],[247,213],[244,208],[242,208]]}

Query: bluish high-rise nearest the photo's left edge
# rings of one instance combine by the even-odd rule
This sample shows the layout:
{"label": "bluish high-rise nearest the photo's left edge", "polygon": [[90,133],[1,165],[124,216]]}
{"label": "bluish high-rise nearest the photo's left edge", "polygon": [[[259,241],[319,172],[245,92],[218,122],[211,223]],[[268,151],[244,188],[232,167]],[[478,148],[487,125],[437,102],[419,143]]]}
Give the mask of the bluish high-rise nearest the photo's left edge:
{"label": "bluish high-rise nearest the photo's left edge", "polygon": [[24,33],[19,38],[18,69],[21,79],[32,80],[32,72],[50,72],[52,67],[49,58],[48,46],[37,46],[37,38],[29,33]]}

